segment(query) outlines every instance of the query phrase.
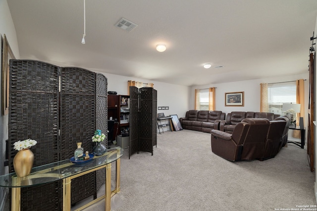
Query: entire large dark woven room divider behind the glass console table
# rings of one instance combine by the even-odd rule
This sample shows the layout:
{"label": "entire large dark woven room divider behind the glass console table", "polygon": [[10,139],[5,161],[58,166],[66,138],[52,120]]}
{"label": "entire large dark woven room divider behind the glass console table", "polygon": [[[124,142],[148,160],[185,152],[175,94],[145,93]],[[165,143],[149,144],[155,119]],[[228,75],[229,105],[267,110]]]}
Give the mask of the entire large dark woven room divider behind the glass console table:
{"label": "entire large dark woven room divider behind the glass console table", "polygon": [[[31,148],[36,167],[69,159],[76,142],[91,152],[95,130],[107,134],[107,79],[102,74],[41,61],[10,60],[9,82],[9,172],[14,171],[15,141],[31,138],[38,142]],[[73,179],[71,203],[92,195],[96,198],[104,181],[102,170]],[[60,211],[62,198],[61,182],[22,188],[21,211]]]}

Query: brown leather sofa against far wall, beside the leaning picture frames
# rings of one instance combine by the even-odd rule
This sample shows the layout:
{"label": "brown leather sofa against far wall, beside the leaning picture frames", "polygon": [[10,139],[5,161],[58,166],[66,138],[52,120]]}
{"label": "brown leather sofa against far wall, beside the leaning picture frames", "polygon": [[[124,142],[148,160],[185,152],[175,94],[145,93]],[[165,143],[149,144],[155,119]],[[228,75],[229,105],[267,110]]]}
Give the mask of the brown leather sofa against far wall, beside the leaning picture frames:
{"label": "brown leather sofa against far wall, beside the leaning picture frames", "polygon": [[[224,120],[225,113],[222,111],[199,111],[189,110],[186,116],[179,118],[183,129],[190,129],[202,132],[210,132],[214,128],[216,120]],[[218,126],[216,127],[218,128]]]}

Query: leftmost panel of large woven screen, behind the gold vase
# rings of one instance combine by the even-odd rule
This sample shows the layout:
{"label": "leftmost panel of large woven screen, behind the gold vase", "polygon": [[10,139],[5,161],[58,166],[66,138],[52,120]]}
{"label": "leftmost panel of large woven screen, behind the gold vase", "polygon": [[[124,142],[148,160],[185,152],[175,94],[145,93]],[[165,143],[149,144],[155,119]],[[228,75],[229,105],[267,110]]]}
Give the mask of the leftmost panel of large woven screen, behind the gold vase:
{"label": "leftmost panel of large woven screen, behind the gold vase", "polygon": [[[59,67],[33,60],[10,60],[9,79],[9,172],[16,151],[13,143],[27,138],[38,143],[31,148],[34,165],[59,161]],[[60,210],[61,183],[21,189],[21,211]]]}

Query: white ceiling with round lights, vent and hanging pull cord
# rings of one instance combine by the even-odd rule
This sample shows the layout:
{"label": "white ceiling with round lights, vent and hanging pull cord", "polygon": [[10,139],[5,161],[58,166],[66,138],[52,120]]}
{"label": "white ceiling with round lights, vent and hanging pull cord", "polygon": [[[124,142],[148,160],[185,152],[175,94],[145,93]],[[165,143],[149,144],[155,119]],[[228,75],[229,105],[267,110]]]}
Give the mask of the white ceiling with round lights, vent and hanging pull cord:
{"label": "white ceiling with round lights, vent and hanging pull cord", "polygon": [[188,86],[306,73],[317,17],[317,0],[86,0],[82,44],[84,0],[7,2],[21,59]]}

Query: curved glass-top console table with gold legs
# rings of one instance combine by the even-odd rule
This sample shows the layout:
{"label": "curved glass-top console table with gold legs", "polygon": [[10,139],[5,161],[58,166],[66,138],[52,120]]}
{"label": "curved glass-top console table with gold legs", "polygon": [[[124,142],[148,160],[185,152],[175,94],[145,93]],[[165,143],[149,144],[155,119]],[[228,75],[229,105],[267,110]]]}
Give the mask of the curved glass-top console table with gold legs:
{"label": "curved glass-top console table with gold legs", "polygon": [[[121,147],[108,149],[102,156],[95,156],[91,161],[82,164],[73,164],[67,160],[58,161],[32,168],[30,175],[17,177],[15,173],[0,176],[0,186],[12,188],[11,211],[20,211],[21,188],[42,185],[57,180],[63,180],[63,211],[70,211],[71,179],[90,173],[92,171],[106,168],[105,195],[82,206],[76,211],[83,210],[90,205],[105,199],[106,211],[111,210],[111,197],[120,191],[120,158],[123,155]],[[116,161],[115,189],[111,191],[111,163]]]}

